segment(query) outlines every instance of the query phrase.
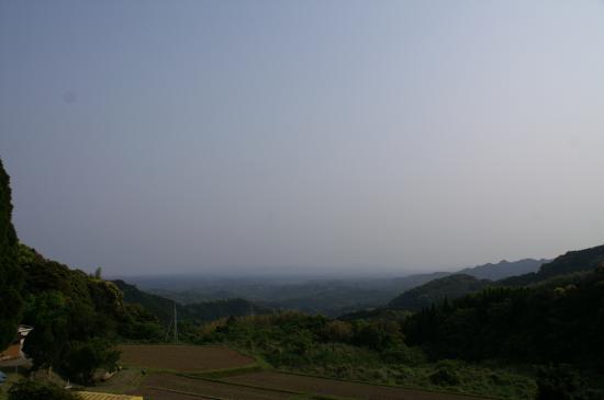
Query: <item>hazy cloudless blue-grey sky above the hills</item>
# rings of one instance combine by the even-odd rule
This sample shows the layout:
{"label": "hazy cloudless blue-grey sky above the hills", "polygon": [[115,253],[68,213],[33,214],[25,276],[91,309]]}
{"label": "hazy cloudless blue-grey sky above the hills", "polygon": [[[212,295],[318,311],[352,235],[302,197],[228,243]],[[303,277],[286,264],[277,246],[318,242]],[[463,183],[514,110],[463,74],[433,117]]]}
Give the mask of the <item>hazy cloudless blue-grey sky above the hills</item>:
{"label": "hazy cloudless blue-grey sky above the hills", "polygon": [[604,2],[0,0],[22,242],[400,274],[604,242]]}

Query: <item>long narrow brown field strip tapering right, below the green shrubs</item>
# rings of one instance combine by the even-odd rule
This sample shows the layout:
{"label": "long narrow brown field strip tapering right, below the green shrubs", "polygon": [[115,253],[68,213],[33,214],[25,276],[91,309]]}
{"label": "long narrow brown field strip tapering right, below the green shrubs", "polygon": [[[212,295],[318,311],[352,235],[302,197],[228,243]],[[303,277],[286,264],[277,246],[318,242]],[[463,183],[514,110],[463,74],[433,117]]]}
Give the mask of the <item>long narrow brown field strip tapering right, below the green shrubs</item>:
{"label": "long narrow brown field strip tapering right, below the green shrubs", "polygon": [[312,392],[316,395],[339,396],[365,400],[480,400],[478,397],[437,393],[268,372],[238,375],[224,380],[266,388],[279,388],[306,393]]}

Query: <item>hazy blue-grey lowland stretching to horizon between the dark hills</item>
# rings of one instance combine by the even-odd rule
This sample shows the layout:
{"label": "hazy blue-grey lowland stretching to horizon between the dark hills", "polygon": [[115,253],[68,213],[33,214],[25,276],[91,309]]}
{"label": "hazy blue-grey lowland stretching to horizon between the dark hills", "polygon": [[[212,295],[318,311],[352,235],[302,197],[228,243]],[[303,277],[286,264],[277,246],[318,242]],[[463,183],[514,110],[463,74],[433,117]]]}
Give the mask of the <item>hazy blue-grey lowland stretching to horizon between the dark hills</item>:
{"label": "hazy blue-grey lowland stretching to horizon between the dark hills", "polygon": [[[316,278],[316,277],[230,277],[205,278],[190,276],[157,278],[132,277],[138,288],[177,302],[189,305],[245,298],[255,305],[275,310],[299,310],[312,315],[337,317],[346,312],[384,305],[401,292],[440,277],[441,274],[423,274],[402,278]],[[163,286],[159,286],[163,285]],[[188,286],[187,286],[188,285]]]}

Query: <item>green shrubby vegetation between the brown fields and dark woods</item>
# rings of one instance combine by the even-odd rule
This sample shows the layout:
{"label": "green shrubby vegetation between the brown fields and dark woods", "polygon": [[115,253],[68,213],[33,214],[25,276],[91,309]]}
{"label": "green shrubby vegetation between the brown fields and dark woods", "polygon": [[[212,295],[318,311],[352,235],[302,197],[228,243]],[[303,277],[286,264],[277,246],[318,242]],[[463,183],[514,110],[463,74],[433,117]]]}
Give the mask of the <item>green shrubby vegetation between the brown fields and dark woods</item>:
{"label": "green shrubby vegetation between the brown fields and dark woods", "polygon": [[[395,321],[332,320],[297,312],[205,324],[198,343],[227,343],[294,373],[383,385],[532,399],[536,384],[512,370],[460,361],[430,363]],[[456,379],[450,377],[455,376]]]}

